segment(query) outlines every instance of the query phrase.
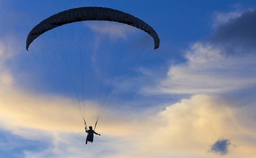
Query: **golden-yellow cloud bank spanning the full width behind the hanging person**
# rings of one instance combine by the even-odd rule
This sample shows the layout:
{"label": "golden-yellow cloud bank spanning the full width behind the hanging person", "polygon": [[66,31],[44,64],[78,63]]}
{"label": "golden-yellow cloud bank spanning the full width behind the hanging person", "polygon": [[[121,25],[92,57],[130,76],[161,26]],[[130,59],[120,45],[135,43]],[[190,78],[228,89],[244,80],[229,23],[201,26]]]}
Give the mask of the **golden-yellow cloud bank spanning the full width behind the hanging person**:
{"label": "golden-yellow cloud bank spanning the full width behind the hanging person", "polygon": [[[96,129],[101,136],[88,149],[81,118],[65,98],[14,89],[2,91],[0,98],[2,128],[26,139],[52,142],[40,151],[27,149],[26,157],[209,157],[208,146],[222,136],[238,144],[230,157],[255,156],[249,150],[256,146],[256,124],[249,121],[256,117],[249,112],[254,106],[241,109],[219,97],[194,95],[159,112],[110,108]],[[94,111],[93,106],[91,102],[88,111]]]}

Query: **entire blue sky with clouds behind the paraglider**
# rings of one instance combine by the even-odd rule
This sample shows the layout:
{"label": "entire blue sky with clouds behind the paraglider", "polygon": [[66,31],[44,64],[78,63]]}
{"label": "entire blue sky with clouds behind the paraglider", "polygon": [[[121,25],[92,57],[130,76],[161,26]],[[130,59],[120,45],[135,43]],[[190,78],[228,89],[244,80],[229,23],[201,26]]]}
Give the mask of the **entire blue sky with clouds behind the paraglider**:
{"label": "entire blue sky with clouds behind the paraglider", "polygon": [[[139,29],[89,21],[49,31],[26,51],[36,24],[81,6],[143,19],[157,31],[159,49]],[[0,157],[255,157],[255,8],[253,0],[0,0]],[[85,44],[76,46],[80,39]],[[60,53],[52,53],[56,71],[37,43],[49,54],[66,53],[74,83]],[[125,48],[129,53],[118,63]],[[107,49],[111,57],[99,93],[101,53]],[[109,85],[110,91],[120,89],[106,99],[96,128],[101,136],[85,145],[70,96],[76,104],[85,102],[93,124]]]}

